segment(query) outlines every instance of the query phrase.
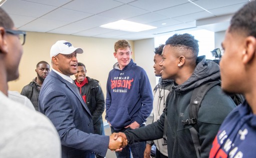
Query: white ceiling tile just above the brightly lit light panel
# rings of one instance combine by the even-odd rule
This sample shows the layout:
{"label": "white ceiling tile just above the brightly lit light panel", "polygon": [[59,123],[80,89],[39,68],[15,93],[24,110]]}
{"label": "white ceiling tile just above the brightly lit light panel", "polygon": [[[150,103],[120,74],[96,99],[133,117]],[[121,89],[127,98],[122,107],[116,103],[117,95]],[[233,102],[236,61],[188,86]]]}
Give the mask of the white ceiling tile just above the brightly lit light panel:
{"label": "white ceiling tile just above the brightly lit light panel", "polygon": [[138,16],[141,14],[145,14],[147,12],[148,11],[145,11],[143,9],[139,9],[134,6],[124,4],[119,7],[115,7],[113,9],[101,12],[101,13],[99,13],[99,15],[117,18],[117,19],[126,19],[126,18],[130,18],[130,17]]}

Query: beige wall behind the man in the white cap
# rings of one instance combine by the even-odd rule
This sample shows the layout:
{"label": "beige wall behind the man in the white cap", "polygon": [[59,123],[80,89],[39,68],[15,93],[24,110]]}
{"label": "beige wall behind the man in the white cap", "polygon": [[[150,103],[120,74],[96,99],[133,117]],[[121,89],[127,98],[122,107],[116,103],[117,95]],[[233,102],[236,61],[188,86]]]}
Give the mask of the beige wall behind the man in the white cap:
{"label": "beige wall behind the man in the white cap", "polygon": [[[106,80],[108,72],[117,60],[113,56],[114,43],[117,39],[92,38],[74,35],[27,32],[26,42],[23,45],[23,55],[19,63],[19,78],[8,83],[9,90],[20,92],[36,77],[36,64],[44,60],[50,63],[49,51],[57,40],[67,40],[74,47],[81,47],[82,54],[77,54],[78,62],[85,64],[87,76],[98,80],[103,93],[106,94]],[[133,41],[129,41],[133,47]],[[132,56],[134,58],[134,56]],[[71,76],[74,79],[74,76]]]}

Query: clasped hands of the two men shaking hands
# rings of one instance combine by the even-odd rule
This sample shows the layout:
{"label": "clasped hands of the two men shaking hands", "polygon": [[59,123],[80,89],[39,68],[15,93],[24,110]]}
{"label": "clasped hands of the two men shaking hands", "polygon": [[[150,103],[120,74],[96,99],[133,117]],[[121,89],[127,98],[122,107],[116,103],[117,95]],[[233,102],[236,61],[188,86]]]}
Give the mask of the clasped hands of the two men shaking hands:
{"label": "clasped hands of the two men shaking hands", "polygon": [[124,133],[112,133],[112,135],[109,136],[108,149],[110,149],[112,152],[122,151],[127,144],[128,141]]}

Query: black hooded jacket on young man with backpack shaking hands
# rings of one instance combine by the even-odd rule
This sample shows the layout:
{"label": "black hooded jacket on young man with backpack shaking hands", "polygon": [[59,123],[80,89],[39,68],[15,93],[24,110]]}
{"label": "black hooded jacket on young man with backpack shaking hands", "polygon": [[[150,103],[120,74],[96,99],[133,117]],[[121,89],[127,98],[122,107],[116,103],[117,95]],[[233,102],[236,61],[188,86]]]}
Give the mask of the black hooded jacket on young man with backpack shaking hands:
{"label": "black hooded jacket on young man with backpack shaking hands", "polygon": [[[220,77],[219,66],[212,61],[205,61],[204,56],[197,58],[193,74],[181,85],[173,84],[173,90],[166,99],[167,110],[167,150],[168,158],[196,158],[192,142],[191,125],[183,125],[181,121],[189,119],[188,105],[194,88]],[[197,133],[201,145],[200,158],[208,158],[212,141],[220,124],[235,107],[229,96],[222,93],[219,86],[212,87],[204,96],[198,111]],[[164,113],[157,122],[144,128],[125,132],[129,143],[162,138]]]}

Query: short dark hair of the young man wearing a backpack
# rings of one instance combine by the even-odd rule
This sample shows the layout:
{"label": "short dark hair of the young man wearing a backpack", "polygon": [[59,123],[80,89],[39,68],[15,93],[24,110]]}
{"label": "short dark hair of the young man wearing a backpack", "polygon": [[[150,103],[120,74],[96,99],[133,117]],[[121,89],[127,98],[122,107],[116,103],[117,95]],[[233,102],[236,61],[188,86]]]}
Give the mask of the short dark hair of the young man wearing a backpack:
{"label": "short dark hair of the young man wearing a backpack", "polygon": [[195,58],[198,56],[198,40],[194,39],[194,36],[191,34],[174,34],[166,40],[165,45],[190,49],[192,50]]}

